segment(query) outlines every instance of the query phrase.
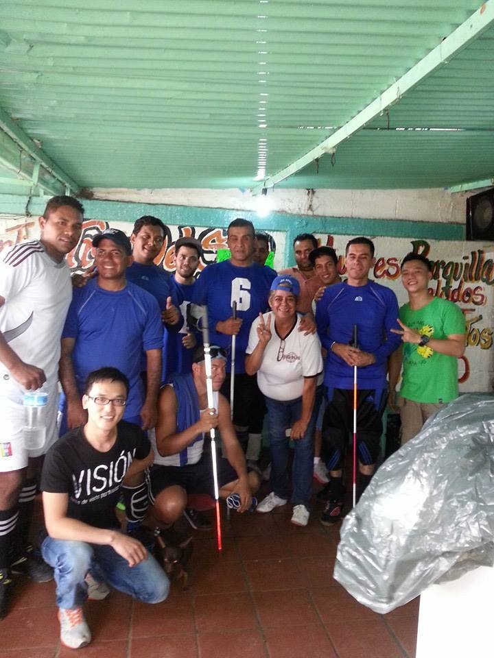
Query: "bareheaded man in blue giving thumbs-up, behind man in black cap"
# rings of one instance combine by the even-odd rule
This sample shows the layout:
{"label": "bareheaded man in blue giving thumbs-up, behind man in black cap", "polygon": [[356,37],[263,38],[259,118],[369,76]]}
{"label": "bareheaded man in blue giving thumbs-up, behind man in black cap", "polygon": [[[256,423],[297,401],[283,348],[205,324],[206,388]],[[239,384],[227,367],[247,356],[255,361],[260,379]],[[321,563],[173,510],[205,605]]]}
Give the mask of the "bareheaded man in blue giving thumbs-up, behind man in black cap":
{"label": "bareheaded man in blue giving thumbs-up, behind man in black cap", "polygon": [[[183,318],[178,310],[178,298],[176,289],[163,267],[154,265],[154,259],[158,256],[165,241],[165,224],[152,215],[139,217],[134,223],[130,243],[132,244],[132,265],[126,271],[126,279],[140,288],[147,290],[156,297],[161,309],[161,317],[165,325],[163,333],[162,373],[161,379],[165,380],[167,374],[173,372],[169,369],[169,334],[176,334],[183,326]],[[145,364],[144,364],[145,365]],[[145,369],[145,367],[143,368]]]}

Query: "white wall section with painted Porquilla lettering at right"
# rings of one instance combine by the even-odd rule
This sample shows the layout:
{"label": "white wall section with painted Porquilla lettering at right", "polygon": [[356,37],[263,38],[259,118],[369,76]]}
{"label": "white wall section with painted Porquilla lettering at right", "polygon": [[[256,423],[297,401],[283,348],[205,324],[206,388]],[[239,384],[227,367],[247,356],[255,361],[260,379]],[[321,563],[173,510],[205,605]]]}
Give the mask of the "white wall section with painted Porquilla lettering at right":
{"label": "white wall section with painted Porquilla lettering at right", "polygon": [[[353,236],[316,234],[320,244],[329,245],[338,254],[342,276],[344,250]],[[376,262],[371,278],[395,291],[398,302],[408,296],[401,285],[400,263],[409,252],[423,254],[432,262],[429,291],[460,306],[467,324],[467,349],[458,372],[462,391],[491,391],[494,380],[494,247],[478,243],[373,238]]]}

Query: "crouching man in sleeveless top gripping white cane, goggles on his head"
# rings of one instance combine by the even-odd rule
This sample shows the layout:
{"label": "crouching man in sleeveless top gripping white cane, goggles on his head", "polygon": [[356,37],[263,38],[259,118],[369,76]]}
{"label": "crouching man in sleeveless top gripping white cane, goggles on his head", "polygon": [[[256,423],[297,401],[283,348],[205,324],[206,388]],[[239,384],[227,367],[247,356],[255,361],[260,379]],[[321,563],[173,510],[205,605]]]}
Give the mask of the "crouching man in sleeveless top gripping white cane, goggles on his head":
{"label": "crouching man in sleeveless top gripping white cane, goggles on his head", "polygon": [[207,404],[202,346],[193,356],[192,374],[176,374],[158,398],[158,423],[155,432],[150,432],[154,446],[151,490],[154,516],[165,526],[183,514],[188,493],[213,496],[211,453],[204,446],[204,437],[211,428],[220,431],[226,456],[217,458],[220,497],[237,493],[237,511],[244,512],[259,487],[257,474],[247,473],[244,452],[231,423],[230,405],[219,392],[225,378],[226,353],[212,346],[211,358],[214,409],[208,409]]}

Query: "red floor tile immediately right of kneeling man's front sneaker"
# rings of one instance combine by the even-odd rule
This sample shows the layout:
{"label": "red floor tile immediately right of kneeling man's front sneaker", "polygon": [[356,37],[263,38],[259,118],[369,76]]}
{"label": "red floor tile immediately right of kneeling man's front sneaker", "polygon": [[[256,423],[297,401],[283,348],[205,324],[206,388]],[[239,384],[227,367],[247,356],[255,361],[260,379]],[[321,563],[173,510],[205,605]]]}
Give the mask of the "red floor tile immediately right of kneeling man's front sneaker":
{"label": "red floor tile immediately right of kneeling man's front sneaker", "polygon": [[84,604],[84,616],[95,642],[110,639],[127,639],[130,631],[132,599],[112,598],[104,601],[88,601]]}

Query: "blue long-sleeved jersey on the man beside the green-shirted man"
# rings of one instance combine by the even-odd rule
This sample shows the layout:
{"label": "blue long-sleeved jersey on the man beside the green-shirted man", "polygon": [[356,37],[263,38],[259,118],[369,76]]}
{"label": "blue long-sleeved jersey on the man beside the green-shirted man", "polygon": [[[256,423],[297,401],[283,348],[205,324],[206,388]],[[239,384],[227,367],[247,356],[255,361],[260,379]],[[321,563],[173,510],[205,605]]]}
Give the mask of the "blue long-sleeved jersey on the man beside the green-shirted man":
{"label": "blue long-sleeved jersey on the man beside the green-shirted man", "polygon": [[347,282],[329,286],[316,305],[316,324],[322,346],[327,349],[325,385],[333,389],[353,388],[353,367],[331,352],[333,342],[349,344],[357,325],[358,348],[375,356],[375,363],[358,369],[360,389],[385,389],[387,358],[401,345],[391,329],[397,323],[395,293],[373,281],[364,286]]}

